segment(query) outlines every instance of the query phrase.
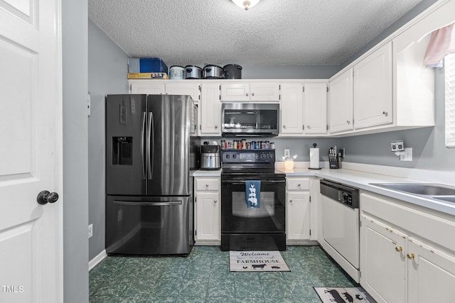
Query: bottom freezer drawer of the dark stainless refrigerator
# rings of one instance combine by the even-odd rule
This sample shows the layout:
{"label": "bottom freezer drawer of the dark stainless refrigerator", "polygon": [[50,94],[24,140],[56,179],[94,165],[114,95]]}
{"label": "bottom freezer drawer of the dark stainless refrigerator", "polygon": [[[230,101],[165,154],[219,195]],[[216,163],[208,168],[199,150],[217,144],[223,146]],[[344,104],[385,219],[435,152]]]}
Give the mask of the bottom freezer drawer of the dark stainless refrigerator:
{"label": "bottom freezer drawer of the dark stainless refrigerator", "polygon": [[193,246],[192,197],[106,198],[106,252],[186,255]]}

